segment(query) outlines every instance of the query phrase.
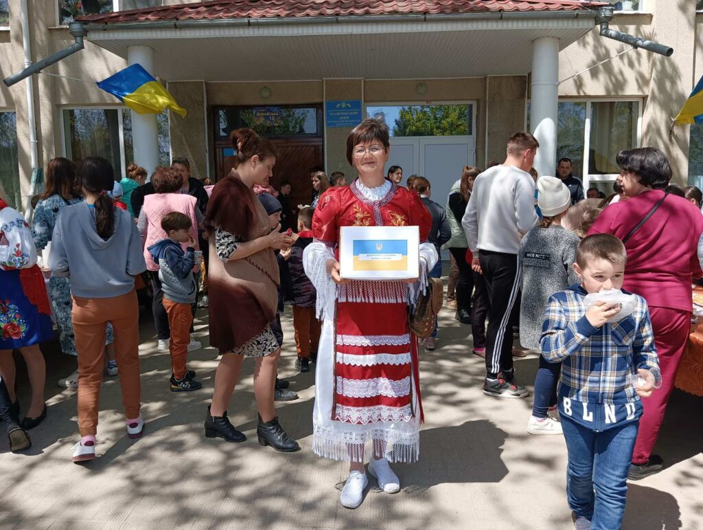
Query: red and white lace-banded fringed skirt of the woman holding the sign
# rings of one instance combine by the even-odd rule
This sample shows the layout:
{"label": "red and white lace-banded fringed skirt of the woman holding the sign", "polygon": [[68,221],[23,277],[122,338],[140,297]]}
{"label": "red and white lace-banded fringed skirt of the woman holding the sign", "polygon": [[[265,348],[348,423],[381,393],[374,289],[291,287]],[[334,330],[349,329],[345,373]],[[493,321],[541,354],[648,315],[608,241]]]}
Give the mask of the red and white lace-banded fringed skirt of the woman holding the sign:
{"label": "red and white lace-banded fringed skirt of the woman holding the sign", "polygon": [[[381,284],[386,284],[382,286]],[[392,462],[419,456],[417,341],[408,329],[406,286],[378,282],[337,296],[316,367],[313,450],[333,460]],[[397,289],[396,289],[397,287]],[[338,295],[339,295],[338,291]]]}

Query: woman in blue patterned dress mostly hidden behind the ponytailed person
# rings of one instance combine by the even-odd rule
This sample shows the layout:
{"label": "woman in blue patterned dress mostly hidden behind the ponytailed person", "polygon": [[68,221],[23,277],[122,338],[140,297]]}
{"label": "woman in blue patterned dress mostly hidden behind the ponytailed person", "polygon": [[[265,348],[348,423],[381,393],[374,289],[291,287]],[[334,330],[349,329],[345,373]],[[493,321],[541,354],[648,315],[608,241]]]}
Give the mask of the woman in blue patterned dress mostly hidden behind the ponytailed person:
{"label": "woman in blue patterned dress mostly hidden behind the ponytailed person", "polygon": [[[53,227],[56,226],[56,219],[63,208],[79,203],[83,200],[79,184],[76,179],[76,165],[67,158],[52,158],[46,165],[46,187],[44,194],[34,209],[34,219],[32,220],[32,236],[34,246],[37,251],[46,248],[51,241]],[[46,264],[44,264],[46,265]],[[53,316],[56,318],[58,327],[59,342],[61,351],[66,355],[78,355],[76,353],[76,340],[71,322],[71,309],[73,301],[71,299],[71,283],[68,278],[51,276],[49,278],[49,299]],[[105,345],[108,346],[114,341],[112,326],[108,324],[105,332]],[[112,346],[112,358],[114,358],[114,346]],[[117,375],[117,368],[110,375]],[[75,389],[78,387],[78,369],[63,379],[58,380],[58,386]]]}

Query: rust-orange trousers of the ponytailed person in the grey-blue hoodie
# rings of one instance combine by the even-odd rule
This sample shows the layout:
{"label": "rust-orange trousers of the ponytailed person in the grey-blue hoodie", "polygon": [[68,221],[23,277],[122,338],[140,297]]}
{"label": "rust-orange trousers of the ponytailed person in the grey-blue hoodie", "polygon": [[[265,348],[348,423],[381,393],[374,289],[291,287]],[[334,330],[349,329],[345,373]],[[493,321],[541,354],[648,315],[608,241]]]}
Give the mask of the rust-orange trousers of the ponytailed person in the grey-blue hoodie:
{"label": "rust-orange trousers of the ponytailed person in the grey-blue hoodie", "polygon": [[78,426],[81,436],[98,432],[103,382],[105,324],[115,330],[115,360],[120,368],[122,404],[128,419],[139,416],[139,306],[136,291],[112,298],[73,297],[71,311],[78,352]]}

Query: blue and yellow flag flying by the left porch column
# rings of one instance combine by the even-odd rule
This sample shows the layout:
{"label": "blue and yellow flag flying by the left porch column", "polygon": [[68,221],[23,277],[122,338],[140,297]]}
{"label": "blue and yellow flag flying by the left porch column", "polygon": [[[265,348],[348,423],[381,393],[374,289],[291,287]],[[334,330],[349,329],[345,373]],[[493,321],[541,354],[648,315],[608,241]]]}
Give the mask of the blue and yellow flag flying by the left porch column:
{"label": "blue and yellow flag flying by the left porch column", "polygon": [[186,117],[186,109],[179,106],[174,96],[138,63],[96,84],[105,92],[117,96],[136,113],[159,114],[170,108],[181,118]]}

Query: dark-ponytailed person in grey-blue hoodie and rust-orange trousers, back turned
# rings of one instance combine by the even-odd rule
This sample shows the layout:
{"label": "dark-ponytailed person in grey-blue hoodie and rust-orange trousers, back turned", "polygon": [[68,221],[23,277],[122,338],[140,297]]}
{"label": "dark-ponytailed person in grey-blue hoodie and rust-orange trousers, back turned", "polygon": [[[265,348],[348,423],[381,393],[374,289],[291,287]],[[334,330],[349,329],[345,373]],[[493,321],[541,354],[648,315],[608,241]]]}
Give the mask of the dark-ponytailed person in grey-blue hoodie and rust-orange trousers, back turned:
{"label": "dark-ponytailed person in grey-blue hoodie and rust-orange trousers, back turned", "polygon": [[73,461],[95,458],[98,396],[103,379],[105,324],[115,330],[127,435],[140,438],[139,308],[134,276],[146,270],[141,236],[127,210],[107,192],[115,174],[98,156],[81,160],[78,175],[85,201],[67,206],[56,221],[49,266],[71,281],[72,320],[78,351],[78,424],[81,439]]}

